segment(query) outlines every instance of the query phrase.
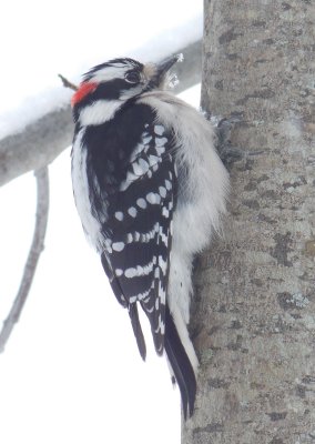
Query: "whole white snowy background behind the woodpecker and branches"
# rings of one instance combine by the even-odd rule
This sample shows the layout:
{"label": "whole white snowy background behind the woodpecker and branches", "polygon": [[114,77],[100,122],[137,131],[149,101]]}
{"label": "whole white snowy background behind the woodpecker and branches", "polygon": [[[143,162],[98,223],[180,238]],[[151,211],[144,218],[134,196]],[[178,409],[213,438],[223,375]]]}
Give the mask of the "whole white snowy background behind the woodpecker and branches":
{"label": "whole white snowy background behind the woodpecker and branches", "polygon": [[[156,60],[201,38],[202,0],[11,0],[1,19],[0,138],[70,100],[58,72],[77,82],[112,57]],[[199,87],[182,95],[199,104]],[[180,395],[165,360],[155,356],[146,329],[142,362],[128,313],[85,242],[69,148],[50,179],[45,250],[0,355],[0,443],[180,443]],[[0,205],[1,322],[32,238],[33,175],[2,186]]]}

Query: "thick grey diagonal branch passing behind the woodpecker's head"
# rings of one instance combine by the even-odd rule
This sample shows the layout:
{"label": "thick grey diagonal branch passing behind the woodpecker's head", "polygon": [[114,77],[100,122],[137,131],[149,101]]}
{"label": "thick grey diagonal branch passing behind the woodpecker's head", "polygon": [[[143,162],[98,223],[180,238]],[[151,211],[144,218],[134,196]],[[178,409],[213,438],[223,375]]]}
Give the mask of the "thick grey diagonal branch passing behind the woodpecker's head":
{"label": "thick grey diagonal branch passing behind the woodpecker's head", "polygon": [[[176,65],[180,83],[174,92],[179,93],[201,81],[201,41],[173,52],[184,54],[183,63]],[[51,163],[71,144],[72,135],[71,109],[67,107],[43,115],[21,133],[0,140],[0,186]]]}

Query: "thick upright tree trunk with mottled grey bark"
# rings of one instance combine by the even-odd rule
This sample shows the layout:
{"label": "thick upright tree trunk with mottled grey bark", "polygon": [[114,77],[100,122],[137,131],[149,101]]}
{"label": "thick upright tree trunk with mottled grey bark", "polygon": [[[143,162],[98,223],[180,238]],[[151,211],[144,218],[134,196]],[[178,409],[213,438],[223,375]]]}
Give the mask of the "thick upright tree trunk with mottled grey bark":
{"label": "thick upright tree trunk with mottled grey bark", "polygon": [[[237,117],[224,238],[195,275],[184,444],[315,443],[315,2],[205,0],[202,107]],[[260,153],[258,153],[260,152]]]}

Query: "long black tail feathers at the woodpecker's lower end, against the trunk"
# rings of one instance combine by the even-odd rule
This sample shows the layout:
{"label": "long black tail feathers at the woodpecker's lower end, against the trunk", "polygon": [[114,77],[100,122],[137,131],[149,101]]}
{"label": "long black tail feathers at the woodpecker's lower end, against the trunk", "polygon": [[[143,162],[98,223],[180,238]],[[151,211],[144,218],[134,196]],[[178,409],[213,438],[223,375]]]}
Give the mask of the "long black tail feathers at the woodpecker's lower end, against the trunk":
{"label": "long black tail feathers at the woodpecker's lower end, against the trunk", "polygon": [[182,396],[184,418],[194,411],[196,395],[196,379],[191,361],[180,340],[170,309],[165,310],[165,352],[173,369]]}

